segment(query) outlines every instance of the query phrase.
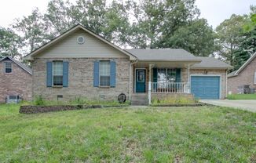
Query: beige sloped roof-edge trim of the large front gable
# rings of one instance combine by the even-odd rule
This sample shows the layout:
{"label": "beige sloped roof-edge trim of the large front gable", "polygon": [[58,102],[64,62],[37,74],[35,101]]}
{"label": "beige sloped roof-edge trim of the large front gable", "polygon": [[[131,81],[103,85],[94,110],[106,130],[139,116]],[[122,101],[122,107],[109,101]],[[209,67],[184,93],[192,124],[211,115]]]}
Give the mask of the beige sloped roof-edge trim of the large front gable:
{"label": "beige sloped roof-edge trim of the large front gable", "polygon": [[[53,45],[56,45],[57,43],[64,40],[64,38],[68,38],[71,36],[71,34],[74,34],[76,31],[82,30],[86,32],[86,34],[89,34],[90,37],[96,38],[97,40],[100,40],[104,45],[107,45],[109,48],[117,50],[119,53],[122,53],[122,55],[126,55],[130,57],[130,60],[137,60],[136,56],[133,56],[132,54],[126,52],[125,50],[119,48],[118,46],[112,44],[112,42],[108,42],[108,40],[102,38],[100,35],[95,34],[93,31],[90,31],[86,29],[86,27],[82,27],[82,25],[76,25],[75,27],[72,27],[70,30],[64,32],[64,34],[60,34],[57,38],[54,38],[52,41],[46,43],[45,45],[42,45],[38,49],[35,49],[32,53],[28,54],[27,56],[24,56],[25,60],[33,60],[35,56],[38,54],[48,50],[50,47],[53,47]],[[97,49],[97,47],[95,47]]]}

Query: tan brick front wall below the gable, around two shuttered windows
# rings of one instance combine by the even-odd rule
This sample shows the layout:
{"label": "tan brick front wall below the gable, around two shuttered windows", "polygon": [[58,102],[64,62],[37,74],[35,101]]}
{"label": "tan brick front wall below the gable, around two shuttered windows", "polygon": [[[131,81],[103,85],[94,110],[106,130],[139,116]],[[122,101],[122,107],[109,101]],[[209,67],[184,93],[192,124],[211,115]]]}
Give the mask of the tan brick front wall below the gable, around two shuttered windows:
{"label": "tan brick front wall below the gable, around two shuttered windows", "polygon": [[[88,100],[117,100],[120,93],[129,98],[129,63],[126,58],[115,59],[115,88],[93,87],[93,61],[101,59],[57,59],[69,62],[68,87],[46,87],[46,62],[55,59],[35,59],[33,67],[33,96],[42,95],[46,100],[57,100],[57,95],[63,95],[63,100],[74,100],[83,97]],[[106,59],[102,59],[106,60]]]}

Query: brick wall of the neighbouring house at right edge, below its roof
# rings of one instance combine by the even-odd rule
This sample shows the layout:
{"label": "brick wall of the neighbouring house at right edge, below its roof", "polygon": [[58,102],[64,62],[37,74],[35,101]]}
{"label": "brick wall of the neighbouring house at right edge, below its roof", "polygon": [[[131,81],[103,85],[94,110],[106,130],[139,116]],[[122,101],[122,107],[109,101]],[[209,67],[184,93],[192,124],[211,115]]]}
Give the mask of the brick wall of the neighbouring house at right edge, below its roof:
{"label": "brick wall of the neighbouring house at right edge, below its roof", "polygon": [[256,71],[256,58],[238,76],[228,78],[228,92],[238,93],[237,87],[239,85],[250,85],[251,88],[256,89],[256,85],[254,85],[254,71]]}

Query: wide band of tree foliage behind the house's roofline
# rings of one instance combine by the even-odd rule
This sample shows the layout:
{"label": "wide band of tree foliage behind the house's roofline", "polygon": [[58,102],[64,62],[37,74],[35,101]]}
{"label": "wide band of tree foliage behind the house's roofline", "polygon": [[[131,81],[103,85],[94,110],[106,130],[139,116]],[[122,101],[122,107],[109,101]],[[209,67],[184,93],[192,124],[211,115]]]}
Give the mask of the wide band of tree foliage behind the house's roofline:
{"label": "wide band of tree foliage behind the house's roofline", "polygon": [[34,9],[29,16],[13,23],[13,31],[18,34],[10,33],[23,43],[23,47],[15,46],[14,49],[2,45],[5,47],[2,52],[13,54],[15,50],[27,49],[23,55],[31,53],[75,24],[82,24],[123,47],[182,48],[196,56],[210,56],[218,49],[218,56],[223,60],[232,65],[239,63],[239,53],[245,54],[242,51],[254,45],[250,42],[254,41],[255,6],[251,6],[251,21],[248,16],[233,15],[217,27],[215,34],[207,20],[199,18],[195,1],[77,0],[71,3],[51,0],[46,13]]}

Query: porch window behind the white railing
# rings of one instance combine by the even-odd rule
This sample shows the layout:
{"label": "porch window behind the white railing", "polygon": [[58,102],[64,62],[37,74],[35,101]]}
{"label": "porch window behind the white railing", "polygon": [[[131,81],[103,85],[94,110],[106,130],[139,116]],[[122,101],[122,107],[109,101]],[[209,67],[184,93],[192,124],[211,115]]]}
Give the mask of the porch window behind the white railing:
{"label": "porch window behind the white railing", "polygon": [[159,68],[157,70],[157,81],[159,88],[164,88],[166,84],[176,82],[176,69]]}

